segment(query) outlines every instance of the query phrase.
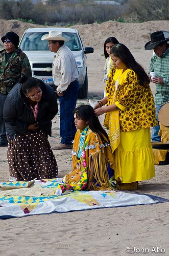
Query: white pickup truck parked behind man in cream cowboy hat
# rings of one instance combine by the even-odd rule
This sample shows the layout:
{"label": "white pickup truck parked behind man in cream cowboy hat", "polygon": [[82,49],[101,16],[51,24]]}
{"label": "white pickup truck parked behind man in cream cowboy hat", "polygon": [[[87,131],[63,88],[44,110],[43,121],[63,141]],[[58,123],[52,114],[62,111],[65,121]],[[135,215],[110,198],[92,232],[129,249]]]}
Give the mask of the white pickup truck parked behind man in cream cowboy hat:
{"label": "white pickup truck parked behind man in cream cowboy hat", "polygon": [[32,75],[55,88],[52,77],[52,63],[55,53],[49,50],[47,40],[41,40],[42,35],[52,30],[61,31],[63,36],[68,39],[68,41],[65,41],[65,45],[73,52],[78,65],[80,83],[78,97],[86,98],[88,92],[86,54],[93,53],[94,50],[92,47],[84,48],[77,29],[32,28],[27,29],[23,33],[19,48],[25,52],[29,58]]}

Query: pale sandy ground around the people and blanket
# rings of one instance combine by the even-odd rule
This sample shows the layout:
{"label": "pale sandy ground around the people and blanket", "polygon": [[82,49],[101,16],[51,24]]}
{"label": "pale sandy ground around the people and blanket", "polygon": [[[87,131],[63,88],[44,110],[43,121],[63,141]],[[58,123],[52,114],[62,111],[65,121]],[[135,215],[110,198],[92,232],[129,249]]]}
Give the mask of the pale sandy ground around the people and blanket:
{"label": "pale sandy ground around the people and blanket", "polygon": [[[166,30],[165,27],[161,27],[161,24],[160,26],[157,24],[155,30]],[[87,27],[87,25],[85,26]],[[140,31],[140,33],[144,33],[144,31]],[[107,38],[109,35],[107,33],[104,37]],[[99,41],[100,48],[96,47],[93,54],[87,55],[88,98],[93,100],[101,99],[104,91],[102,79],[105,60],[102,45],[106,38]],[[132,37],[130,50],[137,61],[148,71],[152,51],[145,51],[142,46],[136,49],[134,40],[135,38]],[[148,40],[149,38],[146,38],[144,42]],[[130,41],[128,41],[129,45]],[[93,45],[90,44],[90,46]],[[153,84],[151,86],[154,92]],[[87,101],[78,100],[77,104],[85,102]],[[53,120],[53,135],[49,140],[51,145],[60,142],[59,114]],[[63,177],[71,169],[70,153],[71,150],[54,151],[58,162],[59,177]],[[140,182],[138,191],[169,198],[169,165],[155,166],[155,169],[156,177]],[[0,181],[7,181],[9,169],[6,147],[0,147],[0,172]],[[167,243],[168,203],[7,219],[0,220],[0,226],[0,255],[127,256],[134,249],[134,255],[169,254]],[[131,249],[130,253],[125,251],[127,247]],[[129,249],[127,250],[129,251]]]}

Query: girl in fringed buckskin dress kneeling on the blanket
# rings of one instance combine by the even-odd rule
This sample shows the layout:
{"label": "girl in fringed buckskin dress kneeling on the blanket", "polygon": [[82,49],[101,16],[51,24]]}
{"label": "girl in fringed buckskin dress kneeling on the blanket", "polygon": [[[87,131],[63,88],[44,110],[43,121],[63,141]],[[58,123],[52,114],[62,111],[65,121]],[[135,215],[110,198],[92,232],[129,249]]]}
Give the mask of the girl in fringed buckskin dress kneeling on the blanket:
{"label": "girl in fringed buckskin dress kneeling on the blanket", "polygon": [[63,178],[64,185],[73,190],[111,189],[109,173],[112,177],[114,159],[108,135],[90,105],[79,106],[74,115],[77,133],[72,152],[73,170]]}

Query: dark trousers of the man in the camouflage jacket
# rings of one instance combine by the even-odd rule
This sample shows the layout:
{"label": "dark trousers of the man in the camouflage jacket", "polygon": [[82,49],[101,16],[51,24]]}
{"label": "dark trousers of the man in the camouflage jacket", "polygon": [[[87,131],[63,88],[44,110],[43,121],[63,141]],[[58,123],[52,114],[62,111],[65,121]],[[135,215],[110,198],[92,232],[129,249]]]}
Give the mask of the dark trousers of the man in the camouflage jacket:
{"label": "dark trousers of the man in the camouflage jacket", "polygon": [[5,122],[3,118],[3,108],[7,95],[0,93],[0,144],[8,143]]}

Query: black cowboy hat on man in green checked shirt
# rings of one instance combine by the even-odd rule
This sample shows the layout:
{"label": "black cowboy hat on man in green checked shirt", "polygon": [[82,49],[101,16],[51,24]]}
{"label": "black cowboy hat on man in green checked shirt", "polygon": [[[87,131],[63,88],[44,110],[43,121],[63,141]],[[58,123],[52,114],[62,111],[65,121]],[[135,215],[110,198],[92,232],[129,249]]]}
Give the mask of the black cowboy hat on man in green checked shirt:
{"label": "black cowboy hat on man in green checked shirt", "polygon": [[158,45],[161,44],[161,42],[165,43],[169,41],[169,37],[165,38],[162,31],[156,31],[150,35],[151,41],[147,42],[147,44],[144,46],[146,50],[152,50]]}

